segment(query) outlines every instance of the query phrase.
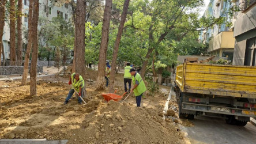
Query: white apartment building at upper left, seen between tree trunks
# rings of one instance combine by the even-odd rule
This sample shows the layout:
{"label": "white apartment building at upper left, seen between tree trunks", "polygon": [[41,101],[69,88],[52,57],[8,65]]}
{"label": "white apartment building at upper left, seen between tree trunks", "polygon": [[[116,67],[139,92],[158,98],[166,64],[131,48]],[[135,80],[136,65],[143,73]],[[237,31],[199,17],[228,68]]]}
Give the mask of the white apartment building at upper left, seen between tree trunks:
{"label": "white apartment building at upper left, seen between tree trunks", "polygon": [[[22,13],[24,13],[24,16],[22,17],[22,28],[25,28],[25,29],[28,29],[28,9],[29,9],[29,0],[23,0]],[[57,5],[54,5],[54,3],[51,3],[50,0],[39,0],[39,17],[46,17],[49,21],[51,21],[53,17],[62,17],[68,21],[72,18],[72,9],[70,5],[67,5],[67,4],[64,4],[62,6],[57,6]],[[40,26],[42,26],[42,23],[39,21],[39,25],[38,25],[39,29],[40,29]],[[24,37],[24,33],[22,37]],[[9,21],[5,22],[2,41],[3,41],[3,48],[5,51],[5,58],[9,59],[9,55],[10,55]]]}

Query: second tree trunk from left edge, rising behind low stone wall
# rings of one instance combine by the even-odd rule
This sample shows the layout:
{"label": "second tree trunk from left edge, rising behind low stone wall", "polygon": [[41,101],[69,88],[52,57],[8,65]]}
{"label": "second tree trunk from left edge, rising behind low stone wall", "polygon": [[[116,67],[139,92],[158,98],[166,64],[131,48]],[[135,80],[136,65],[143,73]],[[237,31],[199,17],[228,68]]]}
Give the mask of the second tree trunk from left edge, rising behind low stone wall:
{"label": "second tree trunk from left edge, rising behind low stone wall", "polygon": [[10,0],[10,65],[16,65],[15,0]]}

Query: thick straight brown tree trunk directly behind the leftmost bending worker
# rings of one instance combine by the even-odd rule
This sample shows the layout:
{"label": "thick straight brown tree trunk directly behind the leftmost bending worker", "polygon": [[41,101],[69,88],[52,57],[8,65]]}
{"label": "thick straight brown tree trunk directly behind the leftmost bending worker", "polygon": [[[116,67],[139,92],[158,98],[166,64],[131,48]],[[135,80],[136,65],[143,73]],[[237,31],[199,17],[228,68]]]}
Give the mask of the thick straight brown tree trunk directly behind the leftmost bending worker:
{"label": "thick straight brown tree trunk directly behind the leftmost bending worker", "polygon": [[85,0],[77,1],[75,22],[75,44],[76,56],[74,56],[74,70],[85,79]]}

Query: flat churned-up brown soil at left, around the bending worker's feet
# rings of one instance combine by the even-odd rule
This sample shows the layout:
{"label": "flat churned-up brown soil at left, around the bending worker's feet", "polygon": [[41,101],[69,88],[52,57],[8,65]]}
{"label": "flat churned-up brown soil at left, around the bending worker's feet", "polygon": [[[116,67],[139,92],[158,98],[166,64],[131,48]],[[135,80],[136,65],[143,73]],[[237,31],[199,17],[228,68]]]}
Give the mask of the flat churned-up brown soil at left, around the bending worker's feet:
{"label": "flat churned-up brown soil at left, around the bending worker's feet", "polygon": [[88,104],[79,105],[73,97],[63,105],[70,90],[66,82],[37,81],[37,96],[29,96],[29,85],[18,86],[20,83],[0,82],[10,86],[0,89],[0,139],[69,139],[71,131],[80,128],[86,115],[102,100],[90,85],[86,89]]}

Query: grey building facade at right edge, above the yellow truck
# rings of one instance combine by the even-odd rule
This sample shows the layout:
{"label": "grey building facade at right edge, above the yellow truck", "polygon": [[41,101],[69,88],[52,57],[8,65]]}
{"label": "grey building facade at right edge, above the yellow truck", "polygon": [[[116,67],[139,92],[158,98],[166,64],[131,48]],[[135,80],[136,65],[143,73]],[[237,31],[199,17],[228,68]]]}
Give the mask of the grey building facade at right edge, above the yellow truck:
{"label": "grey building facade at right edge, above the yellow truck", "polygon": [[240,0],[233,65],[256,66],[256,0]]}

